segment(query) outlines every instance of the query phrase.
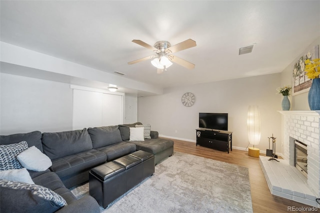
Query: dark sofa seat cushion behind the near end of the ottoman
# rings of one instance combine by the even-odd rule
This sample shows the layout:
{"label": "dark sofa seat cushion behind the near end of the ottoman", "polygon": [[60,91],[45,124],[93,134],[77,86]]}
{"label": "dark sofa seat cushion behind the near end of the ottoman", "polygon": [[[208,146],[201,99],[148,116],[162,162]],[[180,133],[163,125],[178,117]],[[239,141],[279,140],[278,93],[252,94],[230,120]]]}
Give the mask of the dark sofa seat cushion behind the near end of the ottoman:
{"label": "dark sofa seat cushion behind the near end of the ottoman", "polygon": [[80,173],[105,161],[105,153],[90,149],[52,160],[51,170],[63,179],[65,176]]}

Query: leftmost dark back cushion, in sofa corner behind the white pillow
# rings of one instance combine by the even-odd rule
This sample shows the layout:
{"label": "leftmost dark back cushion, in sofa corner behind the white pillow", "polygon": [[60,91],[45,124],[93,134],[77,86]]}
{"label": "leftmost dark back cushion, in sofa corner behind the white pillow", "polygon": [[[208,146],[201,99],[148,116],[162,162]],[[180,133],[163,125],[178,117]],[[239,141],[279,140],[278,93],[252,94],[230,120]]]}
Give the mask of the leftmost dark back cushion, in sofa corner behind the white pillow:
{"label": "leftmost dark back cushion, in sofa corner behind the white pillow", "polygon": [[10,135],[0,135],[0,144],[11,144],[17,143],[20,141],[26,141],[28,147],[34,145],[40,151],[42,150],[42,143],[41,143],[41,132],[40,131],[32,131],[28,133],[18,133],[18,134],[10,134]]}

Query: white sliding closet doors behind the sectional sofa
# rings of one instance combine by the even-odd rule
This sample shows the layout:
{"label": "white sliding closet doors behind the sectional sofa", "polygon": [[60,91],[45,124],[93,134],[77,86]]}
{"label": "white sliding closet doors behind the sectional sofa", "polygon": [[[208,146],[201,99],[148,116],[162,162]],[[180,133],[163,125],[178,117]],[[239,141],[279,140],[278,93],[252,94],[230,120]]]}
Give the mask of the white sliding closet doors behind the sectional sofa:
{"label": "white sliding closet doors behind the sectional sofa", "polygon": [[123,95],[73,88],[72,128],[117,125],[122,123]]}

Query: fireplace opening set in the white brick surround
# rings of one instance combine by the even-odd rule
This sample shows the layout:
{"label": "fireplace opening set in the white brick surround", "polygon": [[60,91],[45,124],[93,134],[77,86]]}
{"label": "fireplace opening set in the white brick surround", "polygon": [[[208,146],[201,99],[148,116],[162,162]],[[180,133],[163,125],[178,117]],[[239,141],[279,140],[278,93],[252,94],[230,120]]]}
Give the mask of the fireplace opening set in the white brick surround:
{"label": "fireplace opening set in the white brick surround", "polygon": [[298,140],[294,140],[294,164],[295,167],[307,177],[307,152],[306,145]]}

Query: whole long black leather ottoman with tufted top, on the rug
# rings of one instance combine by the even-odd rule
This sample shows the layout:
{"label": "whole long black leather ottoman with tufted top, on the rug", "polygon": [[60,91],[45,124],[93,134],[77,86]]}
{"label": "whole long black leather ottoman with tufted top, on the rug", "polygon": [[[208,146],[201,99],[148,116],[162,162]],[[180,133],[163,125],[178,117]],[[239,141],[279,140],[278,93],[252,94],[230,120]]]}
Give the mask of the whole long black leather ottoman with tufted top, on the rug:
{"label": "whole long black leather ottoman with tufted top, on the rug", "polygon": [[89,193],[99,205],[108,204],[154,173],[154,155],[136,151],[89,171]]}

